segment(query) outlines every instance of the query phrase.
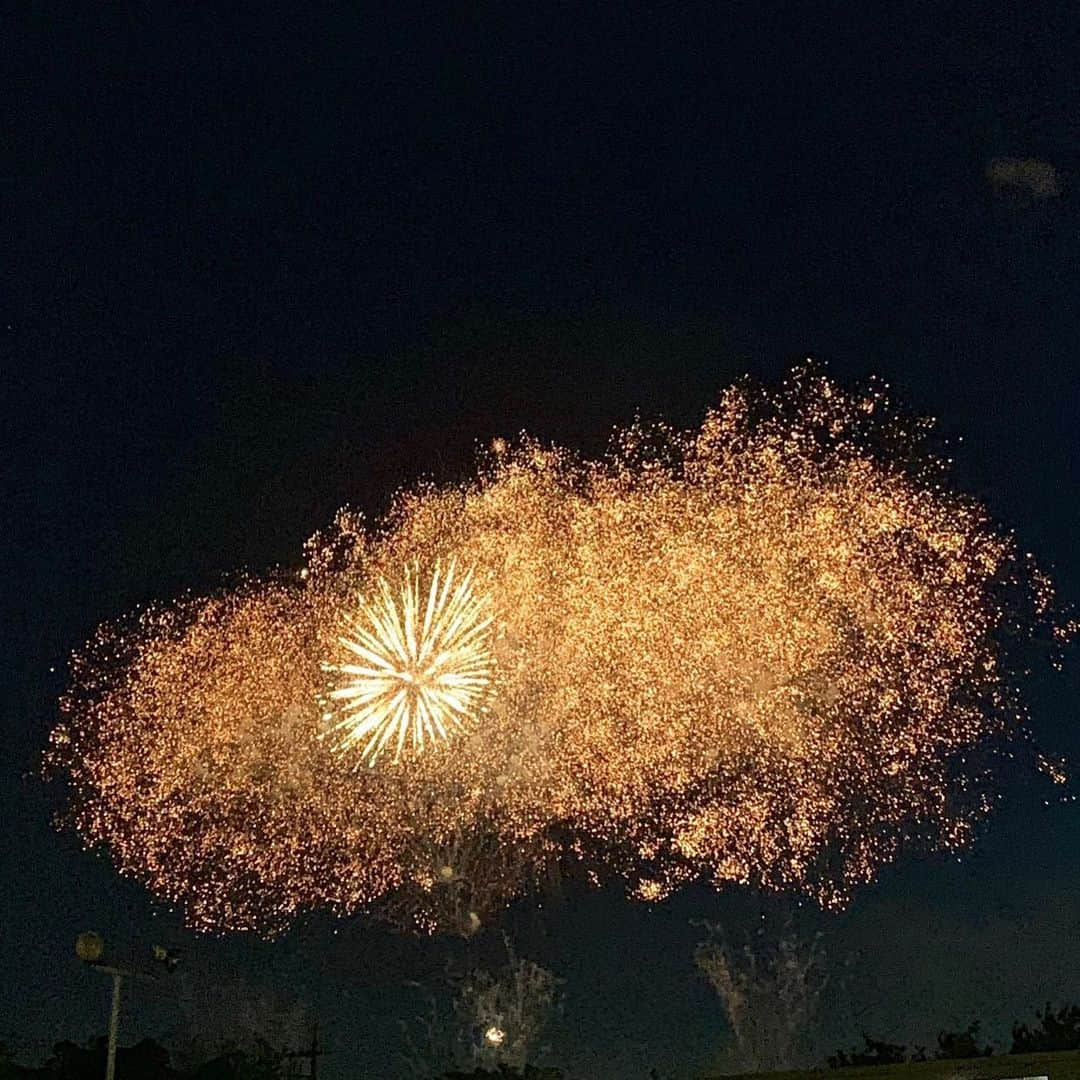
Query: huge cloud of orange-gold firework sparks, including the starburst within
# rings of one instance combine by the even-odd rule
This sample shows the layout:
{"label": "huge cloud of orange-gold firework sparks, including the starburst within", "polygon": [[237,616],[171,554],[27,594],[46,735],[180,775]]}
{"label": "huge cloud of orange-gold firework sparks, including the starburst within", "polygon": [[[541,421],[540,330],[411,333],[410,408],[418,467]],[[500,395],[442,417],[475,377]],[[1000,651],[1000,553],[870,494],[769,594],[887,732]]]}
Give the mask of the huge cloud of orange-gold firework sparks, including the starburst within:
{"label": "huge cloud of orange-gold firework sparks, including the starburst within", "polygon": [[77,657],[73,824],[203,929],[468,933],[564,860],[841,904],[969,841],[1023,721],[1005,638],[1051,600],[926,435],[807,368],[598,462],[500,441],[377,528],[343,512],[297,575]]}

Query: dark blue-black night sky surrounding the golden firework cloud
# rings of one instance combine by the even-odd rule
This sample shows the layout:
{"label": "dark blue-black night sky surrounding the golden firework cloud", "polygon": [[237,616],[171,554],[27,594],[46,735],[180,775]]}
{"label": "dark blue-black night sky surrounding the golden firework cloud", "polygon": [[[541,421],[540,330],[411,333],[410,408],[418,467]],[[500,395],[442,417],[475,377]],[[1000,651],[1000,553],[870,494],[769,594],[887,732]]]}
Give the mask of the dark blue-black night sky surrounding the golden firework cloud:
{"label": "dark blue-black night sky surrounding the golden firework cloud", "polygon": [[[55,832],[35,772],[99,621],[295,565],[339,505],[465,475],[494,435],[595,453],[746,372],[876,373],[962,436],[956,483],[1080,598],[1071,4],[79,6],[2,29],[0,1040],[104,1029],[72,953],[95,928],[181,945],[231,1001],[292,996],[329,1080],[394,1075],[406,983],[445,946],[321,918],[198,937]],[[1048,162],[1057,193],[995,187],[995,158]],[[1028,698],[1080,760],[1076,667]],[[962,861],[806,916],[835,975],[819,1058],[976,1016],[1000,1043],[1080,1000],[1080,811],[1005,795]],[[723,1066],[690,920],[758,914],[703,889],[512,913],[567,981],[550,1059]],[[138,990],[122,1037],[180,1018]]]}

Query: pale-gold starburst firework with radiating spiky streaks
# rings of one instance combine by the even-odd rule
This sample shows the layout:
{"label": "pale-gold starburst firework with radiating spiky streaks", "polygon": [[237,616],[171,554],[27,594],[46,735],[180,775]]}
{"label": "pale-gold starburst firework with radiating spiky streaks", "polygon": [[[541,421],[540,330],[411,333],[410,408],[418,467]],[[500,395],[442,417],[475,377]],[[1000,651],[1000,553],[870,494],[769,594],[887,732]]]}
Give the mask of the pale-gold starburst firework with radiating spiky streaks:
{"label": "pale-gold starburst firework with radiating spiky streaks", "polygon": [[363,743],[361,758],[374,766],[392,744],[396,762],[406,741],[420,752],[476,717],[494,658],[490,600],[471,570],[458,576],[453,559],[445,571],[436,563],[424,582],[413,565],[396,593],[380,578],[376,597],[362,596],[346,624],[338,644],[350,659],[326,664],[337,680],[323,717],[335,721],[338,751]]}

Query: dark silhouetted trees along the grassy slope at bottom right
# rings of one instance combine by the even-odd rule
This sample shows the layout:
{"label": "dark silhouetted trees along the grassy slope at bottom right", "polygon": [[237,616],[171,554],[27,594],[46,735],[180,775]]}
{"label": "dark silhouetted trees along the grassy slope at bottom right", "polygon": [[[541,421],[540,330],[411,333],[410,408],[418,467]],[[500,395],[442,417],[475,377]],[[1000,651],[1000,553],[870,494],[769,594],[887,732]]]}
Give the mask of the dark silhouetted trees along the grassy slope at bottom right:
{"label": "dark silhouetted trees along the grassy slope at bottom right", "polygon": [[[1080,1005],[1062,1005],[1054,1010],[1050,1003],[1035,1012],[1036,1023],[1014,1023],[1010,1054],[1039,1054],[1057,1050],[1080,1050]],[[981,1045],[978,1021],[973,1021],[962,1031],[940,1031],[937,1049],[930,1053],[926,1047],[906,1047],[903,1043],[872,1039],[863,1035],[863,1045],[838,1050],[828,1058],[829,1068],[842,1069],[866,1065],[903,1065],[909,1062],[953,1061],[960,1057],[989,1057],[994,1048]]]}

